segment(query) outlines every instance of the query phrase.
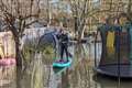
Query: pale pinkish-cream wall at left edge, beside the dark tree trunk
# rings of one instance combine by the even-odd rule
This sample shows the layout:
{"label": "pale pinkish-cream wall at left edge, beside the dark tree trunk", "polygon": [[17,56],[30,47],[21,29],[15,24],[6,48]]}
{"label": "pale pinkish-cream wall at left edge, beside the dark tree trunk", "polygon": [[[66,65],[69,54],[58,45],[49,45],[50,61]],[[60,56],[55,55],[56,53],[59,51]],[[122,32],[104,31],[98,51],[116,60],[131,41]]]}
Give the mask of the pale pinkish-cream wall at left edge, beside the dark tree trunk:
{"label": "pale pinkish-cream wall at left edge, beside the dark tree trunk", "polygon": [[15,44],[11,32],[0,32],[0,56],[15,57]]}

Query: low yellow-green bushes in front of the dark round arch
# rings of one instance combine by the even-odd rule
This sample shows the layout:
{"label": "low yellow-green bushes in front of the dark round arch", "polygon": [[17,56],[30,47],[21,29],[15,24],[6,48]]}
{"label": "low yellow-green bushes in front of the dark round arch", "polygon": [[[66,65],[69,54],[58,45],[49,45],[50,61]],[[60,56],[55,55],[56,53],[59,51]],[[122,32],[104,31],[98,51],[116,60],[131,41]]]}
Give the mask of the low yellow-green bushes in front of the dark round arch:
{"label": "low yellow-green bushes in front of the dark round arch", "polygon": [[44,43],[38,45],[36,48],[34,45],[26,45],[23,47],[24,61],[30,62],[32,59],[31,55],[35,53],[35,51],[41,52],[43,54],[43,58],[53,58],[55,56],[55,50],[53,44]]}

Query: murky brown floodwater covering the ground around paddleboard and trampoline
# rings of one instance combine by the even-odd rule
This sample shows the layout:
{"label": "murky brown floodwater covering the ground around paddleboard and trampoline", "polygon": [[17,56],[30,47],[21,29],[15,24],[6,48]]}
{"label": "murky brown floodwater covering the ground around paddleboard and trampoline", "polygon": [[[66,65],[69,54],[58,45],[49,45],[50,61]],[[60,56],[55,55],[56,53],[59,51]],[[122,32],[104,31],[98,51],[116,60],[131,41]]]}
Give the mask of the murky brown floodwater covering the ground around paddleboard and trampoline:
{"label": "murky brown floodwater covering the ground around paddleboard and trampoline", "polygon": [[[99,51],[98,48],[97,51]],[[26,68],[0,67],[0,88],[132,88],[132,80],[118,80],[94,72],[94,44],[74,45],[72,67],[55,74],[52,62],[34,54]],[[100,56],[100,51],[98,52]]]}

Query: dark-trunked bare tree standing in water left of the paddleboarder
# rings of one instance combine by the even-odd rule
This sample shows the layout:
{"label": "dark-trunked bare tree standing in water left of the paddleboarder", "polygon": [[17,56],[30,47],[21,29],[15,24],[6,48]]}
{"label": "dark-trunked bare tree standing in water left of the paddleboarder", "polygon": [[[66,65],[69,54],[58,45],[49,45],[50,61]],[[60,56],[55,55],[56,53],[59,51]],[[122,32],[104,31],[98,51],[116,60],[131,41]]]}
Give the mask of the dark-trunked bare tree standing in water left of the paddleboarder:
{"label": "dark-trunked bare tree standing in water left of the paddleboarder", "polygon": [[0,16],[12,32],[16,65],[22,66],[21,38],[26,26],[38,20],[40,0],[0,0]]}

